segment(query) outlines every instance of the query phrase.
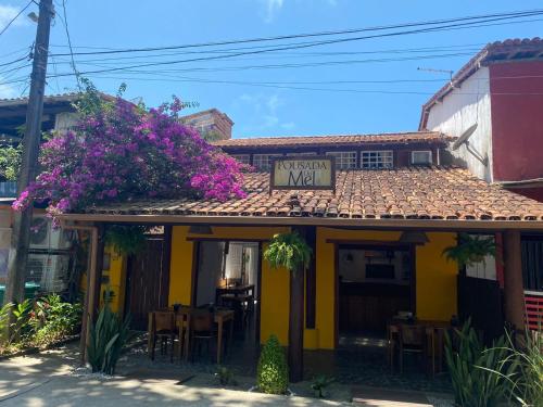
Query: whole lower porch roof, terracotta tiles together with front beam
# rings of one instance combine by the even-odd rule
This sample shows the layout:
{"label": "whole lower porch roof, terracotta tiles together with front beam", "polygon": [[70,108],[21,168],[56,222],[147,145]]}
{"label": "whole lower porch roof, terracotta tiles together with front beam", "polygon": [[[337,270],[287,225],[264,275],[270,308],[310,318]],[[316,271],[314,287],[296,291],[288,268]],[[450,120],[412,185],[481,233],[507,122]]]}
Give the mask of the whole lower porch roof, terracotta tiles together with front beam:
{"label": "whole lower porch roof, terracotta tiles together with front beam", "polygon": [[543,230],[543,203],[491,186],[466,169],[343,170],[332,191],[268,192],[269,174],[245,176],[248,196],[141,200],[90,207],[65,220],[320,225]]}

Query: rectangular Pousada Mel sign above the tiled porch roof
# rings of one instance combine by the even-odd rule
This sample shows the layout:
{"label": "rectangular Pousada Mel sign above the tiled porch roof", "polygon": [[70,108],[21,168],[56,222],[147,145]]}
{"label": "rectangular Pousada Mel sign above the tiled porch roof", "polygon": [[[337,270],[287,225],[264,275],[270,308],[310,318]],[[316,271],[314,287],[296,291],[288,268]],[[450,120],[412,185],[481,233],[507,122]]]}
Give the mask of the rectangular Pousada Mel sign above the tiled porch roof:
{"label": "rectangular Pousada Mel sign above the tiled porch roof", "polygon": [[336,157],[299,155],[272,160],[269,191],[336,190]]}

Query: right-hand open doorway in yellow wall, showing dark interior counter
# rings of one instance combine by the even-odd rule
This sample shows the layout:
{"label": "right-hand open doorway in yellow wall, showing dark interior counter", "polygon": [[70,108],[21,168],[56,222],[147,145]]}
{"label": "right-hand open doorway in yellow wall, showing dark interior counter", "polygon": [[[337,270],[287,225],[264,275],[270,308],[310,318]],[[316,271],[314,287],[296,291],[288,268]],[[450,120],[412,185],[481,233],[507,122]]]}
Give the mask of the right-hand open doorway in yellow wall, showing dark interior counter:
{"label": "right-hand open doorway in yellow wall, showing dark interior counter", "polygon": [[415,314],[415,250],[399,244],[337,246],[339,344],[386,338],[388,322]]}

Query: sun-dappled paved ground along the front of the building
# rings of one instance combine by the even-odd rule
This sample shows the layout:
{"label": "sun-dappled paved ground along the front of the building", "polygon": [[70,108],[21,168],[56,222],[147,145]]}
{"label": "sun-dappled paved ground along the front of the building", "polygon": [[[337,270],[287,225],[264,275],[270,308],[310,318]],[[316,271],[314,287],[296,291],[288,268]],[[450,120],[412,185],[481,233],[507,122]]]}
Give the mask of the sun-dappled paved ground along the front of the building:
{"label": "sun-dappled paved ground along the front of the building", "polygon": [[[179,378],[187,374],[176,369],[172,370],[173,376],[167,372],[168,369],[159,369],[159,371],[140,371],[128,377],[104,378],[88,373],[78,376],[80,370],[74,371],[77,366],[78,356],[73,346],[0,361],[0,407],[351,405],[311,397],[274,396],[217,389],[210,386],[213,380],[206,373],[197,373],[184,385],[179,383]],[[240,385],[240,390],[243,389],[248,389],[247,383]],[[408,392],[400,394],[397,398],[397,394],[394,397],[396,392],[393,390],[379,391],[374,387],[353,390],[355,395],[357,393],[367,396],[366,399],[361,397],[361,404],[355,405],[431,406],[417,403],[419,399],[414,399],[414,394]],[[417,393],[417,397],[420,396],[421,393]]]}

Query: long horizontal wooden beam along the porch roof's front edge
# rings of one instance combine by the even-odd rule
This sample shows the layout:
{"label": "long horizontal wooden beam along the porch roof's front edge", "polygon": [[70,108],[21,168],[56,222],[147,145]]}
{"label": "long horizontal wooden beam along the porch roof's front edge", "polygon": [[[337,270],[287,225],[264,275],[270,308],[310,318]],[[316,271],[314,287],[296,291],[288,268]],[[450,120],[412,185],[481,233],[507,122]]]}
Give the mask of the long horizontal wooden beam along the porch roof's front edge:
{"label": "long horizontal wooden beam along the porch roof's front edge", "polygon": [[353,219],[330,217],[275,217],[275,216],[201,216],[166,214],[64,214],[63,220],[102,221],[135,225],[198,225],[213,226],[321,226],[351,227],[375,230],[435,230],[435,231],[543,231],[542,220],[463,220],[463,219]]}

